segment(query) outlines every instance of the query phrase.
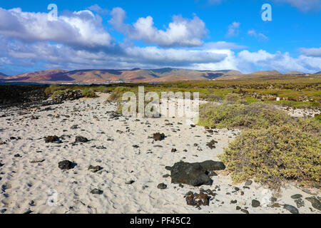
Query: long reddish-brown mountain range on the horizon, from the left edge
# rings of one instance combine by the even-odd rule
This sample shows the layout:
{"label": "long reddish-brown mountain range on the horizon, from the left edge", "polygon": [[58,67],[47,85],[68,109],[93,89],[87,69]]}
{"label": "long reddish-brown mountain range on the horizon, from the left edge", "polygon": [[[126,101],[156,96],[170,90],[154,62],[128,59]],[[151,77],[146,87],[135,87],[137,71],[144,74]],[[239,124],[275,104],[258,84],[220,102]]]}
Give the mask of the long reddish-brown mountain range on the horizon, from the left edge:
{"label": "long reddish-brown mountain range on the horizon, from the left edge", "polygon": [[110,83],[123,82],[166,82],[213,80],[220,76],[241,75],[240,71],[193,71],[175,68],[161,68],[145,70],[135,68],[132,70],[46,70],[23,73],[9,76],[1,81],[24,83]]}

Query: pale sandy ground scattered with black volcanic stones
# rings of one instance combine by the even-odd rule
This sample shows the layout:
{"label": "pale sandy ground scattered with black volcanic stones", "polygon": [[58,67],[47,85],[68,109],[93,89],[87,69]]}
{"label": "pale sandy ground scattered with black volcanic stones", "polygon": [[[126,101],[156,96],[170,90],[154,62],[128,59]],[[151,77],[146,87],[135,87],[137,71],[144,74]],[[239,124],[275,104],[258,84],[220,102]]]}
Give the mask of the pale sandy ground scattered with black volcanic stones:
{"label": "pale sandy ground scattered with black volcanic stones", "polygon": [[[170,183],[170,177],[163,177],[170,174],[165,166],[180,160],[218,161],[217,155],[238,130],[210,134],[203,127],[191,127],[186,118],[115,119],[108,112],[116,110],[117,103],[104,104],[105,100],[106,95],[101,95],[52,105],[53,110],[0,110],[0,116],[6,115],[0,118],[0,141],[6,142],[0,145],[0,213],[243,213],[237,206],[250,213],[290,213],[282,206],[263,205],[270,199],[265,187],[255,182],[249,188],[243,188],[244,183],[233,185],[224,172],[212,177],[212,186],[202,187],[179,187]],[[72,125],[78,129],[71,129]],[[166,135],[165,140],[149,138],[158,132]],[[63,136],[63,142],[45,143],[48,135]],[[90,142],[73,145],[78,135]],[[218,144],[211,150],[206,143],[213,139]],[[98,149],[100,146],[105,149]],[[171,152],[173,148],[177,152]],[[20,156],[15,157],[17,154]],[[60,170],[58,162],[62,160],[71,160],[76,166]],[[89,165],[103,170],[93,173]],[[126,184],[131,180],[132,184]],[[160,190],[159,183],[168,187]],[[91,194],[95,188],[103,194]],[[215,190],[217,195],[210,206],[188,206],[185,193],[200,192],[200,188]],[[320,196],[320,191],[310,191]],[[291,199],[295,194],[301,194],[305,203],[298,208],[300,213],[320,213],[305,199],[311,195],[295,185],[283,187],[277,203],[297,207]],[[252,207],[253,199],[261,206]]]}

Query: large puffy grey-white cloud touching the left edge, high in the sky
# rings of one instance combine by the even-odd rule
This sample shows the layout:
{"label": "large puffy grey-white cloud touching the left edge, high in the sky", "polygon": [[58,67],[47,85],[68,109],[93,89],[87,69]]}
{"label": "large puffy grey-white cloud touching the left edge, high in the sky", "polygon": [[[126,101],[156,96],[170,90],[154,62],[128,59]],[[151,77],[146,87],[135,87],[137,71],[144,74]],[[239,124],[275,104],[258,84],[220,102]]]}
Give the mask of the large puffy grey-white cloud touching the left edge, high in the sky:
{"label": "large puffy grey-white cloud touching the left edge, high in the sky", "polygon": [[51,21],[45,13],[0,8],[0,35],[27,42],[52,41],[88,48],[112,44],[100,18],[88,10],[58,16]]}

